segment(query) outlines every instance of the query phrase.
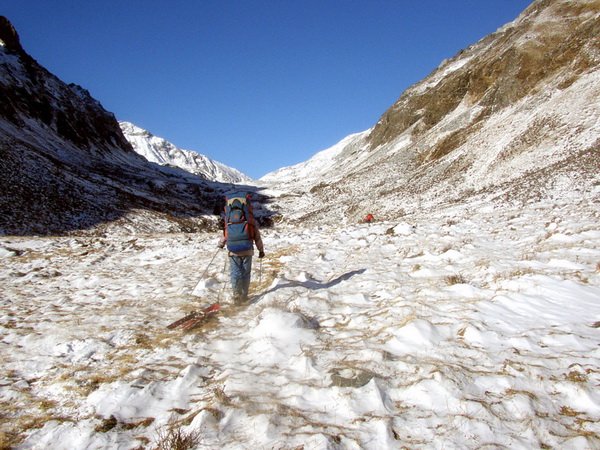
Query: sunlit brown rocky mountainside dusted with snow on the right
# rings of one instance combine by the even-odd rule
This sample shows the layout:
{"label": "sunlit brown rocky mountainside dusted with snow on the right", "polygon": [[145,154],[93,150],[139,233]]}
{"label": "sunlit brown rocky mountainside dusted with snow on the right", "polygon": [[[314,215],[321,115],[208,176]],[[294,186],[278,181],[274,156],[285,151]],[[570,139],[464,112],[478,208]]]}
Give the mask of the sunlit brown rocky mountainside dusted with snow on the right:
{"label": "sunlit brown rocky mountainside dusted with snow on the right", "polygon": [[[600,1],[536,1],[405,91],[371,130],[262,181],[301,222],[598,198],[597,36]],[[316,167],[327,169],[312,176]]]}

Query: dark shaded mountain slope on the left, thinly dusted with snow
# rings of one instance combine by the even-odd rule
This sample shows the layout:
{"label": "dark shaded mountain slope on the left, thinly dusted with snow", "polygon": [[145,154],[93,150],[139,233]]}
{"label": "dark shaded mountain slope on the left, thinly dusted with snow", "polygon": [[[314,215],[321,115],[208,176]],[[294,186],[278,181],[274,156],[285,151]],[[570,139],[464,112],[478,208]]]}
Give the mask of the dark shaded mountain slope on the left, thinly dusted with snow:
{"label": "dark shaded mountain slope on the left, thinly dusted with snow", "polygon": [[0,18],[0,233],[189,231],[220,186],[133,151],[114,115],[21,47]]}

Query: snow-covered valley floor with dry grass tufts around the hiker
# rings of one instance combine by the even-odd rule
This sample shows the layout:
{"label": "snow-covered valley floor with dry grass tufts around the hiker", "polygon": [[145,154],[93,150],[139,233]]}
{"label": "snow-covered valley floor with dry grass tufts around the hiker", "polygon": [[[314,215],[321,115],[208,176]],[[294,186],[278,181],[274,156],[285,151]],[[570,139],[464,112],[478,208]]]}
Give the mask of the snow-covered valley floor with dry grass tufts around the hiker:
{"label": "snow-covered valley floor with dry grass tufts around the hiker", "polygon": [[252,303],[188,333],[226,297],[216,235],[0,238],[0,437],[600,448],[598,204],[404,220],[264,230]]}

